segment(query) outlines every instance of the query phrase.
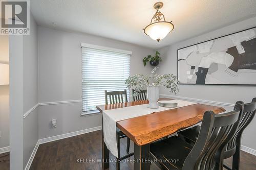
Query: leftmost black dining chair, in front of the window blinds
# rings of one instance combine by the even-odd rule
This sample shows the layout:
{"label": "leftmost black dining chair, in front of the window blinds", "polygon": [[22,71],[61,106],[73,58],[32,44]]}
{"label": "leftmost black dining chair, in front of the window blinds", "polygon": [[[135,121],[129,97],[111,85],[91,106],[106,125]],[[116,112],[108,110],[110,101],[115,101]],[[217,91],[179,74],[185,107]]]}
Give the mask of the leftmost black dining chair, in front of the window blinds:
{"label": "leftmost black dining chair, in front of the window blinds", "polygon": [[[105,90],[105,104],[116,104],[116,103],[124,103],[128,102],[127,100],[127,91],[106,91]],[[120,169],[120,161],[126,159],[130,156],[133,156],[134,153],[129,154],[130,150],[130,138],[127,137],[127,145],[126,145],[126,153],[127,155],[120,157],[120,139],[127,137],[120,129],[117,128],[116,132],[116,140],[117,140],[117,152],[118,152],[118,161],[116,163],[116,169]]]}

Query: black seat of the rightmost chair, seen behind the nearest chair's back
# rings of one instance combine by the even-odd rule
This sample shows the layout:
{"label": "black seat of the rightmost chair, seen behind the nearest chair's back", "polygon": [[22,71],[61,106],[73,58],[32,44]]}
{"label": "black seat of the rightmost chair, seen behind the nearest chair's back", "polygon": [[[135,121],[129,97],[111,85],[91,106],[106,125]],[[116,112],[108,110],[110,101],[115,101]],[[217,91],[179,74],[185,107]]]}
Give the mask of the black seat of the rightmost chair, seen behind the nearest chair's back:
{"label": "black seat of the rightmost chair, seen behind the nearest chair's back", "polygon": [[201,126],[194,126],[189,129],[178,132],[180,138],[184,139],[186,142],[194,145],[197,141]]}

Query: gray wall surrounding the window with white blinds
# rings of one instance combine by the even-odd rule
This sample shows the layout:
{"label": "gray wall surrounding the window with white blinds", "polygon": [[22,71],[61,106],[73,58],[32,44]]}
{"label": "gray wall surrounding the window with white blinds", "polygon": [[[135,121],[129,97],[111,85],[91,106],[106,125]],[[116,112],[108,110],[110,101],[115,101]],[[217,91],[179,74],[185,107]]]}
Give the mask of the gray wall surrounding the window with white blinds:
{"label": "gray wall surrounding the window with white blinds", "polygon": [[[81,100],[81,42],[132,51],[131,75],[150,74],[142,59],[150,48],[88,34],[39,27],[39,103]],[[101,126],[100,115],[81,117],[81,102],[39,106],[39,138]],[[51,119],[57,128],[51,128]]]}

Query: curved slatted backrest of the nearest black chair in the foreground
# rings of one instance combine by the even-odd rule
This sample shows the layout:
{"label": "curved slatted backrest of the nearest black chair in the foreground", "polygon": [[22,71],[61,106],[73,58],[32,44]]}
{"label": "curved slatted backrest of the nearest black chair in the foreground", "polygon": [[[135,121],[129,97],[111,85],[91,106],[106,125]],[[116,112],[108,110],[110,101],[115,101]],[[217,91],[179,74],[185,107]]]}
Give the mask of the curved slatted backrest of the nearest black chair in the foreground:
{"label": "curved slatted backrest of the nearest black chair in the foreground", "polygon": [[185,159],[182,169],[221,169],[221,155],[236,133],[241,112],[241,104],[237,104],[233,111],[223,114],[206,111],[196,144]]}

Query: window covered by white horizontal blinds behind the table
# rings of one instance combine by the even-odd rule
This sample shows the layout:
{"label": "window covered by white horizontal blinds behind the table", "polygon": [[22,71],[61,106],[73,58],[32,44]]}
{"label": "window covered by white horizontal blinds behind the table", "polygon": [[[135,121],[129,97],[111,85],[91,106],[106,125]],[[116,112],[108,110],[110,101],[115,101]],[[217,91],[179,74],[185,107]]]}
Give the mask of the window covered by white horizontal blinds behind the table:
{"label": "window covered by white horizontal blinds behind the table", "polygon": [[131,54],[82,43],[82,115],[96,113],[96,106],[105,104],[104,90],[126,88]]}

